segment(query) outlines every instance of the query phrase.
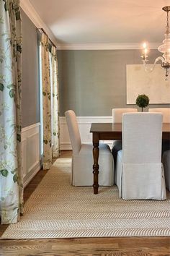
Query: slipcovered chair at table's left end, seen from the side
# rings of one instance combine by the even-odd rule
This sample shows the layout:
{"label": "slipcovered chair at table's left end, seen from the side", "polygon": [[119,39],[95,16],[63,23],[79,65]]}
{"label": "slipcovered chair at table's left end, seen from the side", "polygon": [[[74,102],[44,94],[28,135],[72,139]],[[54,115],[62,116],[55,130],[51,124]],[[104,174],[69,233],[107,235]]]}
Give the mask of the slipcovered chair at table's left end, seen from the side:
{"label": "slipcovered chair at table's left end, seen from the side", "polygon": [[[65,112],[68,133],[73,149],[71,184],[73,186],[92,186],[93,184],[93,145],[81,143],[76,114]],[[115,171],[112,153],[107,144],[99,144],[99,185],[115,184]]]}

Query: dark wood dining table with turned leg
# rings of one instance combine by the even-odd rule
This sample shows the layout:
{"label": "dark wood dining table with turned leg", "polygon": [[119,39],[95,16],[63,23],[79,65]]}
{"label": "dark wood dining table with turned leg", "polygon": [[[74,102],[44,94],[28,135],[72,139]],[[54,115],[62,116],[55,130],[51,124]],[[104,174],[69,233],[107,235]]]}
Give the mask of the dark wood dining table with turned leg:
{"label": "dark wood dining table with turned leg", "polygon": [[[99,182],[99,140],[122,140],[122,124],[92,123],[90,132],[93,134],[93,174],[94,194],[98,194]],[[170,124],[164,123],[162,127],[162,138],[170,140]]]}

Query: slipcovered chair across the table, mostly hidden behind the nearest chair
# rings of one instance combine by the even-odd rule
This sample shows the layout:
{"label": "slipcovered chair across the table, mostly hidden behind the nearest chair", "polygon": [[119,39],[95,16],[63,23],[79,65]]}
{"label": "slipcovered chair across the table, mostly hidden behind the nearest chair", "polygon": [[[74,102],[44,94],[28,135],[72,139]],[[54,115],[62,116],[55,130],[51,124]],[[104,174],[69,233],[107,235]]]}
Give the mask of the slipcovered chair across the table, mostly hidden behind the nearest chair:
{"label": "slipcovered chair across the table, mostly hidden behind the nearest chair", "polygon": [[[138,112],[137,108],[112,108],[112,123],[122,123],[122,114],[129,112]],[[112,145],[112,155],[116,166],[117,152],[122,149],[122,141],[115,140]]]}

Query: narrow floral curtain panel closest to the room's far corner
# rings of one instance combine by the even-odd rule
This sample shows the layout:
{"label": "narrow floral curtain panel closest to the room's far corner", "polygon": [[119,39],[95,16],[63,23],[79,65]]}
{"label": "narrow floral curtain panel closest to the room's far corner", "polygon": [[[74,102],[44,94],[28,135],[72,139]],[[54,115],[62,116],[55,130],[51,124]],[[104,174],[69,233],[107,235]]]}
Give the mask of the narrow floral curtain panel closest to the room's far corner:
{"label": "narrow floral curtain panel closest to the room's far corner", "polygon": [[53,132],[52,132],[52,150],[53,158],[58,158],[60,155],[59,143],[59,98],[58,98],[58,61],[57,49],[52,46],[51,48],[51,69],[52,69],[52,91],[53,91],[53,106],[52,106],[52,119],[53,119]]}

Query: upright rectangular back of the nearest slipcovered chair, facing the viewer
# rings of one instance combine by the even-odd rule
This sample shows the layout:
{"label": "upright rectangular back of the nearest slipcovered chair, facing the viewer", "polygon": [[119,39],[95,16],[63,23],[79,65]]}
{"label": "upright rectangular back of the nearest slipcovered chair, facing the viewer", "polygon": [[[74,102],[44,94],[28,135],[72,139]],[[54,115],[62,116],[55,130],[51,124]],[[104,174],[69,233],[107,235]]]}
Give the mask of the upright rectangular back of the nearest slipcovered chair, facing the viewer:
{"label": "upright rectangular back of the nearest slipcovered chair, facing the viewer", "polygon": [[161,163],[162,114],[123,114],[123,163]]}

